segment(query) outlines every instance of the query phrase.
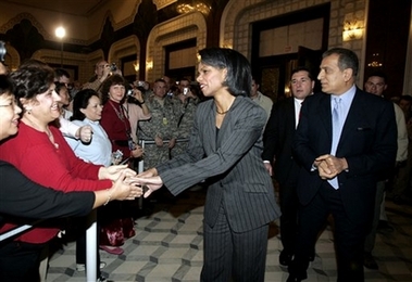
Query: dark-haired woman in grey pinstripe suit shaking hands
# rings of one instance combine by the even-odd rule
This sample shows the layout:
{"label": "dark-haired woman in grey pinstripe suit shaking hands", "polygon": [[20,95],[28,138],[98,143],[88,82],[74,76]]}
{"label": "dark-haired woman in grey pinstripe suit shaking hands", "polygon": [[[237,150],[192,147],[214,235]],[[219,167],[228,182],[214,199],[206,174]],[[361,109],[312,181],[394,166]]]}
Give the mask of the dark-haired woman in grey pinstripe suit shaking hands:
{"label": "dark-haired woman in grey pinstripe suit shaking hands", "polygon": [[201,281],[264,281],[270,221],[279,217],[262,163],[263,108],[248,97],[251,68],[230,49],[199,52],[198,105],[186,153],[140,174],[145,197],[163,184],[174,194],[207,180]]}

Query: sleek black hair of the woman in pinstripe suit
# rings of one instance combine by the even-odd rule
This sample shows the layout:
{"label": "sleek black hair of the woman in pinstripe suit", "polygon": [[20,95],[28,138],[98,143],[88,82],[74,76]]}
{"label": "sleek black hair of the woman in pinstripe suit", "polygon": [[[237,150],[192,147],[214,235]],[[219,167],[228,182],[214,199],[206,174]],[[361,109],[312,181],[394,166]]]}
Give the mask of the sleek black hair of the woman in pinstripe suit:
{"label": "sleek black hair of the woman in pinstripe suit", "polygon": [[205,48],[199,51],[203,64],[226,68],[227,75],[223,86],[233,95],[249,97],[252,89],[252,72],[249,61],[238,51],[227,48]]}

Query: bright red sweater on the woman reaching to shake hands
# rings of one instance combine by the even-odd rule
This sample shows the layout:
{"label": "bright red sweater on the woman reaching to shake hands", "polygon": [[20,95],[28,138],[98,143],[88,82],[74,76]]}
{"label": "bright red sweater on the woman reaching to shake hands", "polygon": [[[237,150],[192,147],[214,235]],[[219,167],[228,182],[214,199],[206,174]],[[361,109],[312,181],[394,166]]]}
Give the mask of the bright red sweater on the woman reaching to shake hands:
{"label": "bright red sweater on the woman reaching to shake hands", "polygon": [[[77,158],[58,128],[50,127],[55,145],[45,132],[20,123],[16,137],[1,143],[0,159],[14,165],[33,181],[54,189],[68,191],[95,191],[112,187],[111,180],[99,180],[101,166],[87,164]],[[5,223],[0,233],[15,227]],[[28,243],[45,243],[59,229],[35,228],[16,240]]]}

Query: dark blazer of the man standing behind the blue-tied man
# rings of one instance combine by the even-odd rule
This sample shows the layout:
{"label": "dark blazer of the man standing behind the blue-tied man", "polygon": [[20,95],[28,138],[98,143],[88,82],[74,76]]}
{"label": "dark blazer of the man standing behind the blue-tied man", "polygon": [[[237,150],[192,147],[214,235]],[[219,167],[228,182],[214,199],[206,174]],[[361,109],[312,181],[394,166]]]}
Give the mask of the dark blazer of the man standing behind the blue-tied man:
{"label": "dark blazer of the man standing behind the blue-tied man", "polygon": [[295,136],[295,99],[287,98],[272,107],[263,134],[263,161],[275,157],[274,175],[283,185],[287,181],[294,181],[298,176],[298,166],[292,157],[292,141]]}

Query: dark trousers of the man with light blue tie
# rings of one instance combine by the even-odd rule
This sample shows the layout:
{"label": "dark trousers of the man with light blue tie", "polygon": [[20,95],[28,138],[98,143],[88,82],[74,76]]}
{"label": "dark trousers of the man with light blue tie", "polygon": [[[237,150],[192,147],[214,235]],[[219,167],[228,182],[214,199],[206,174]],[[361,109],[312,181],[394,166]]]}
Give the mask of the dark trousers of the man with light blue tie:
{"label": "dark trousers of the man with light blue tie", "polygon": [[324,181],[311,203],[299,208],[299,231],[295,258],[289,273],[304,279],[309,266],[311,246],[315,244],[319,231],[327,216],[332,214],[335,222],[335,249],[338,268],[338,282],[364,281],[363,244],[367,222],[353,222],[345,213],[340,191]]}

